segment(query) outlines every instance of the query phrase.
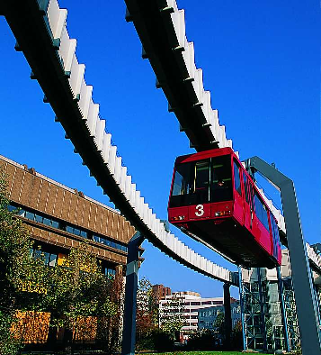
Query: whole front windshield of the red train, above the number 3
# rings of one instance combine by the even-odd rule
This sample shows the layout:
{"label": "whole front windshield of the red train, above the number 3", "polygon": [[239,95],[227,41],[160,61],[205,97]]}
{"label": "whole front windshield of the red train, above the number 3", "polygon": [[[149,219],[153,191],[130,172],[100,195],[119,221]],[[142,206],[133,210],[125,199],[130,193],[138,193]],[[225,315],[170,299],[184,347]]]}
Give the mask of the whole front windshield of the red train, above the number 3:
{"label": "whole front windshield of the red train, above the number 3", "polygon": [[170,207],[230,201],[232,198],[230,155],[176,166]]}

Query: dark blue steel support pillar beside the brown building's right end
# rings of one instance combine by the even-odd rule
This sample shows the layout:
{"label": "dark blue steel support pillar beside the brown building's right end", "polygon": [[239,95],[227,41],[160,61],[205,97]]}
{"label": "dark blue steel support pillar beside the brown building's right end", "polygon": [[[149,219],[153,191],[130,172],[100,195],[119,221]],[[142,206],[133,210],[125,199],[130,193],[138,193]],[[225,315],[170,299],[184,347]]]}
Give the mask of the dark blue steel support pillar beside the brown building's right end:
{"label": "dark blue steel support pillar beside the brown building's right end", "polygon": [[135,354],[138,258],[139,247],[144,239],[139,232],[136,232],[128,245],[121,355]]}

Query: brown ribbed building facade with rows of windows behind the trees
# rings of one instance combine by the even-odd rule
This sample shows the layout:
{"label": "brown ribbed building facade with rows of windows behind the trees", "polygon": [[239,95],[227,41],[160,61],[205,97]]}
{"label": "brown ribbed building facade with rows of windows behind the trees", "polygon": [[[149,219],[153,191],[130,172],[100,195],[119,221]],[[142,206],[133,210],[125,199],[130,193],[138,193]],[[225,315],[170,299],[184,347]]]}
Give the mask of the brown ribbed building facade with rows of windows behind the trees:
{"label": "brown ribbed building facade with rows of windows behind the trees", "polygon": [[2,156],[0,168],[8,182],[8,208],[18,209],[18,218],[29,229],[34,257],[41,255],[49,267],[62,265],[69,250],[85,241],[106,276],[124,275],[135,229],[118,211]]}

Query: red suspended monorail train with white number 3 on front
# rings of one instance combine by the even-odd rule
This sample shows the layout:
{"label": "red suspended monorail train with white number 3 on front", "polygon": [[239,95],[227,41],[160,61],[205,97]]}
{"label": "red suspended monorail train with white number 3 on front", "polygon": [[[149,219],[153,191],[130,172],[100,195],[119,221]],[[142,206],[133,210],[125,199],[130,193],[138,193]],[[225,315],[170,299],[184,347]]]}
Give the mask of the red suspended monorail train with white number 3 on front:
{"label": "red suspended monorail train with white number 3 on front", "polygon": [[168,220],[238,265],[281,265],[275,217],[230,148],[176,159]]}

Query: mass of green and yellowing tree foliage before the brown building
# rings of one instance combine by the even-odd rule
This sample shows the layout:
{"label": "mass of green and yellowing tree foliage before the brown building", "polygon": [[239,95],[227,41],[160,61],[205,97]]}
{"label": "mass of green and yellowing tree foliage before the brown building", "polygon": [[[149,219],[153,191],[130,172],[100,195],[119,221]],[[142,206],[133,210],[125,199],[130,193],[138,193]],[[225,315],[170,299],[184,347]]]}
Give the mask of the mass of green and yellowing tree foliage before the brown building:
{"label": "mass of green and yellowing tree foliage before the brown building", "polygon": [[6,187],[0,170],[0,355],[13,355],[22,345],[12,331],[16,310],[49,312],[49,340],[64,327],[72,341],[76,328],[93,319],[104,350],[118,350],[122,276],[106,278],[88,243],[71,249],[65,263],[54,268],[45,265],[44,254],[32,258],[30,232],[17,211],[8,209]]}

